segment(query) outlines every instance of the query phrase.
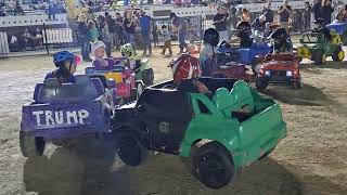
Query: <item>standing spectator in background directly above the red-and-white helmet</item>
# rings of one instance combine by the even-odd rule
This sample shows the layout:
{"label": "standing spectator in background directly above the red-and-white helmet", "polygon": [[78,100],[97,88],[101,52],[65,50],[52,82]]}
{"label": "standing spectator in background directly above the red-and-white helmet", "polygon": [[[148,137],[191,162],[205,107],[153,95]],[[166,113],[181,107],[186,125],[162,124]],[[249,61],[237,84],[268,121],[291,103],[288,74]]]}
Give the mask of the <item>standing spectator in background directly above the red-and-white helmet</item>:
{"label": "standing spectator in background directly above the red-and-white helmet", "polygon": [[185,43],[187,40],[187,32],[188,32],[188,23],[184,18],[177,16],[175,13],[170,14],[170,18],[172,21],[172,31],[178,31],[178,42],[180,52],[179,54],[188,51],[188,44]]}

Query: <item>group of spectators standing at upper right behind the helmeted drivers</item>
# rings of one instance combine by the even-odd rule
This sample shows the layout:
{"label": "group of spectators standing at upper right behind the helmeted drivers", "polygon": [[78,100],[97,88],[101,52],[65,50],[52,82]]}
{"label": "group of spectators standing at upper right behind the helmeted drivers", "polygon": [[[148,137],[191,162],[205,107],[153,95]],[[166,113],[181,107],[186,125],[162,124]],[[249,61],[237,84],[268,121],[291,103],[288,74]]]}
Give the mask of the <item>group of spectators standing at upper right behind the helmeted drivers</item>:
{"label": "group of spectators standing at upper right behind the helmeted drivers", "polygon": [[[271,1],[268,1],[268,5],[264,8],[262,12],[255,16],[249,14],[249,11],[245,8],[237,9],[233,3],[224,3],[217,9],[217,14],[214,16],[214,25],[220,35],[220,39],[229,39],[230,31],[236,29],[237,24],[241,22],[249,23],[253,29],[259,31],[264,31],[269,26],[277,24],[287,32],[291,32],[294,27],[297,31],[305,32],[311,28],[312,15],[316,21],[324,18],[324,24],[333,22],[332,18],[334,16],[336,16],[336,22],[345,22],[347,18],[346,9],[340,1],[333,3],[332,0],[317,0],[313,6],[309,2],[305,2],[304,10],[294,12],[288,4],[288,0],[283,0],[283,5],[279,10],[272,10]],[[333,13],[336,13],[336,15],[333,15]]]}

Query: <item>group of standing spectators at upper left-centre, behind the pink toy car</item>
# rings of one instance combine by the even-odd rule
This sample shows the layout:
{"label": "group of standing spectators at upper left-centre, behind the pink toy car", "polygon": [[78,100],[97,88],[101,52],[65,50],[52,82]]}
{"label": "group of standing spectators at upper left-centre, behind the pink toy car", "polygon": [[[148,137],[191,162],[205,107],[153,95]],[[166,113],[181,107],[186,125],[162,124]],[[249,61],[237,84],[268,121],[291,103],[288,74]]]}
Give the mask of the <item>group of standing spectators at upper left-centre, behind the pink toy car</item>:
{"label": "group of standing spectators at upper left-centre, behind the pink toy car", "polygon": [[[143,49],[143,55],[152,54],[152,46],[164,43],[163,55],[166,50],[172,55],[171,41],[178,39],[180,53],[188,50],[188,43],[193,40],[198,30],[189,18],[170,15],[171,22],[158,24],[143,10],[127,10],[124,15],[116,13],[115,17],[105,12],[94,20],[88,20],[85,14],[78,16],[77,35],[81,43],[81,53],[85,61],[90,61],[90,43],[102,40],[107,50],[107,56],[112,49],[120,49],[125,43],[131,43],[137,49]],[[171,25],[172,24],[172,25]],[[197,35],[196,35],[197,36]]]}

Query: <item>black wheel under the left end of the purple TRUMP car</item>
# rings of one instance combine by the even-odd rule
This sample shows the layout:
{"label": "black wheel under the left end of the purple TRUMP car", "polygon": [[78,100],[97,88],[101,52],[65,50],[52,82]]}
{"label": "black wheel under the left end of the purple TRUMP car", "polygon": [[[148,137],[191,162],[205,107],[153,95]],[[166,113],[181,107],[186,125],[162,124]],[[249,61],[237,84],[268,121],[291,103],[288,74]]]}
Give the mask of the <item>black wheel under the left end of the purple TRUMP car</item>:
{"label": "black wheel under the left end of the purple TRUMP car", "polygon": [[20,131],[20,147],[23,156],[42,156],[46,142],[42,138],[36,138],[31,133]]}

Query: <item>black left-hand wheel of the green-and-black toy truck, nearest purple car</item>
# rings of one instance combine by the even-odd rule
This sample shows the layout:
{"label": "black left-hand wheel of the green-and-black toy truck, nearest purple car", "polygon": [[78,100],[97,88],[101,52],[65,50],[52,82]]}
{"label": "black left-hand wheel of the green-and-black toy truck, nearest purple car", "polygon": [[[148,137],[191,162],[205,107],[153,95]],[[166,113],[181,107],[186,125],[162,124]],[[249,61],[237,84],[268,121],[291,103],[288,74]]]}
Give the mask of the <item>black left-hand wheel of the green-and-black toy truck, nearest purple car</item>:
{"label": "black left-hand wheel of the green-and-black toy truck, nearest purple car", "polygon": [[124,164],[136,167],[145,159],[147,151],[133,133],[116,133],[115,139],[117,154]]}

